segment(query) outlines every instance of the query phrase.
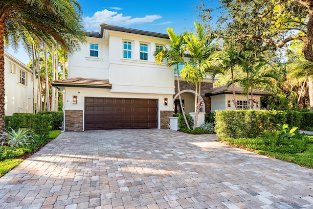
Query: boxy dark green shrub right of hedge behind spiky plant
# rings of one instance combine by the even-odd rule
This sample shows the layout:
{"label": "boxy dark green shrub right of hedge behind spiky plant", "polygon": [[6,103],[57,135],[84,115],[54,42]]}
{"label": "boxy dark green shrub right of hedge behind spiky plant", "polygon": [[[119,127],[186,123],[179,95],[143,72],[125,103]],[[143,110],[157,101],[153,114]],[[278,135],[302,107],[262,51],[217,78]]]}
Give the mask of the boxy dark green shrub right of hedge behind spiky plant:
{"label": "boxy dark green shrub right of hedge behind spiky plant", "polygon": [[47,136],[51,129],[51,115],[36,114],[35,116],[34,133],[40,136]]}

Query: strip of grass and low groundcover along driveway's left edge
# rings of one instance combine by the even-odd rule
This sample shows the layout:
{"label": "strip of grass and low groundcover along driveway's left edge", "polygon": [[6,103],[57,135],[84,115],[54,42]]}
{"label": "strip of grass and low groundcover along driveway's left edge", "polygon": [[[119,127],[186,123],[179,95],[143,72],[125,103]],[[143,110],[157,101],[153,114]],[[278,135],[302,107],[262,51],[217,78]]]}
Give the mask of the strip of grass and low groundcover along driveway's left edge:
{"label": "strip of grass and low groundcover along driveway's left edge", "polygon": [[0,147],[0,177],[9,172],[12,168],[23,162],[50,140],[57,138],[61,134],[60,130],[49,131],[48,139],[36,141],[29,147]]}

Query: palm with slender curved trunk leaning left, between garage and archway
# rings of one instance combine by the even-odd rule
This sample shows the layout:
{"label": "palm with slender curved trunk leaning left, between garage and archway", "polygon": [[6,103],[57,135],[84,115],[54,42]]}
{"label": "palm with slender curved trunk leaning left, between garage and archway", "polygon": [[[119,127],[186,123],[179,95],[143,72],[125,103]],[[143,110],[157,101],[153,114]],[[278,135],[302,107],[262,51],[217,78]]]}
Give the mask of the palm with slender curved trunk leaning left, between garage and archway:
{"label": "palm with slender curved trunk leaning left, between garage and archway", "polygon": [[177,88],[178,88],[178,94],[179,94],[179,103],[180,103],[180,109],[182,112],[182,115],[185,119],[186,126],[188,129],[190,129],[190,126],[188,124],[185,111],[182,106],[182,100],[180,96],[180,85],[179,85],[179,64],[185,63],[184,60],[184,46],[185,46],[185,41],[184,41],[184,36],[186,35],[187,32],[184,32],[181,35],[177,35],[173,28],[167,28],[166,32],[170,38],[170,43],[171,43],[171,48],[164,48],[161,49],[156,53],[156,63],[158,65],[162,64],[162,60],[166,59],[166,66],[172,67],[176,66],[177,69]]}

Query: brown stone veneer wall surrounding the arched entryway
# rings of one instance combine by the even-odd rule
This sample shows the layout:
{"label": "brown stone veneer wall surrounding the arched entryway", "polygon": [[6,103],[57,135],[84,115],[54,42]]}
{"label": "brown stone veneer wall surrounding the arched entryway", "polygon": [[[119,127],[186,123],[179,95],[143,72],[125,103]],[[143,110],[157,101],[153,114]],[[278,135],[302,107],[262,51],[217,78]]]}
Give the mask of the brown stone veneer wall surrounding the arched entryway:
{"label": "brown stone veneer wall surrounding the arched entryway", "polygon": [[[180,91],[183,91],[183,90],[195,91],[196,90],[195,84],[187,83],[186,81],[181,81],[181,80],[179,80],[179,84],[180,84]],[[205,93],[212,92],[212,90],[213,90],[213,83],[201,83],[201,96],[205,104],[205,114],[211,113],[211,97],[205,97]],[[177,93],[178,93],[177,81],[175,81],[175,95]],[[175,95],[173,95],[173,97]]]}

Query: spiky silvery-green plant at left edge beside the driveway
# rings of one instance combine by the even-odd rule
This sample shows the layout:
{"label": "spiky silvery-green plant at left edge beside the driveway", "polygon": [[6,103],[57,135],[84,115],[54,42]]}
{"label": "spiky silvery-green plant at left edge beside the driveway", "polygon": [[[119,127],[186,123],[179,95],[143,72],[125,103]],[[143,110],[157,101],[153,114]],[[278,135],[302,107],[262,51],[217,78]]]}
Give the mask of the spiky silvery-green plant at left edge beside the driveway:
{"label": "spiky silvery-green plant at left edge beside the driveway", "polygon": [[31,136],[30,130],[20,129],[15,131],[11,128],[11,131],[6,130],[1,134],[0,144],[1,146],[28,146],[35,142],[34,137]]}

